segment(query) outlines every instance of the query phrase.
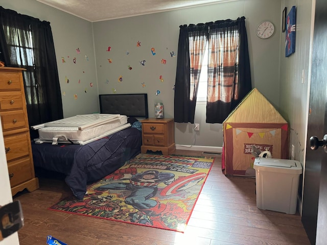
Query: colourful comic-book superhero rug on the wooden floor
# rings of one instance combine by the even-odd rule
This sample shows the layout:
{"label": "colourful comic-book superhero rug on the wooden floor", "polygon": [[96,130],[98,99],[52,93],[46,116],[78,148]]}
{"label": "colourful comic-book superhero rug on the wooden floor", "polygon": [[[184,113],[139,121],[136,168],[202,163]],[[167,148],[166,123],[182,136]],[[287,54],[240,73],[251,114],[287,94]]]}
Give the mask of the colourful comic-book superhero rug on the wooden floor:
{"label": "colourful comic-book superhero rug on the wooden floor", "polygon": [[214,158],[139,154],[49,209],[183,232]]}

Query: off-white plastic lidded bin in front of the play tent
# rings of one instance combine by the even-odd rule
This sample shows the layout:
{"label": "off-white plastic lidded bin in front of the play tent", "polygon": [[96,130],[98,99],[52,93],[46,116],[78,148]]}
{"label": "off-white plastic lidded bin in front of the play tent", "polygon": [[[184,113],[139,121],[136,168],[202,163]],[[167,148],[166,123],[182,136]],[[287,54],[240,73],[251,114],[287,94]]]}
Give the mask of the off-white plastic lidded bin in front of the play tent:
{"label": "off-white plastic lidded bin in front of the play tent", "polygon": [[295,214],[299,176],[299,161],[275,158],[255,158],[256,207]]}

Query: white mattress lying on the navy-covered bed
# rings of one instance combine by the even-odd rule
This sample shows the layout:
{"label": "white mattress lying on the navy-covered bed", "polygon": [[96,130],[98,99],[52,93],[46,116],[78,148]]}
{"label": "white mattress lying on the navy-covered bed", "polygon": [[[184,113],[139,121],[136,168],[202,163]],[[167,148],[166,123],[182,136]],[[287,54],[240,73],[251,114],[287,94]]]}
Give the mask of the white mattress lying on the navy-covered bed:
{"label": "white mattress lying on the navy-covered bed", "polygon": [[[98,114],[94,115],[94,119],[90,117],[91,115],[85,115],[90,118],[88,118],[88,124],[90,124],[90,121],[96,121],[99,119],[100,115],[104,114]],[[82,117],[83,115],[78,115],[76,117]],[[74,117],[71,117],[71,119],[74,119]],[[103,121],[103,118],[100,118],[99,120]],[[102,123],[102,122],[101,122]],[[65,125],[63,127],[59,126],[60,123],[58,121],[55,121],[53,123],[49,122],[45,125],[58,125],[58,126],[45,126],[43,128],[38,129],[39,138],[35,139],[35,141],[41,142],[41,141],[48,141],[51,140],[51,142],[54,142],[55,140],[60,141],[78,141],[77,143],[80,143],[80,141],[87,141],[92,138],[96,138],[101,135],[105,135],[107,132],[109,134],[110,131],[120,128],[123,125],[127,124],[127,116],[125,115],[115,115],[114,117],[110,118],[109,122],[105,122],[103,124],[98,126],[92,126],[92,127],[86,127],[86,129],[81,130],[81,126],[77,127],[67,127],[66,121],[62,123],[62,125]],[[78,122],[74,122],[74,125],[78,125]],[[85,125],[85,124],[84,124]],[[128,125],[129,127],[130,125]],[[83,128],[83,126],[82,126]],[[74,142],[75,143],[75,142]]]}

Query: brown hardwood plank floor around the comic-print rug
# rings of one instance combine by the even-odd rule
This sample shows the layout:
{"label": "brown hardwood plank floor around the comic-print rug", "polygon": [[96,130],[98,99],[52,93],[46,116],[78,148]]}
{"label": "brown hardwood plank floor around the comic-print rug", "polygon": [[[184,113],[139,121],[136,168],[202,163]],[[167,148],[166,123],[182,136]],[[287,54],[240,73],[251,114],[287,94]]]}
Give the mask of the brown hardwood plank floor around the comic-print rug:
{"label": "brown hardwood plank floor around the comic-print rug", "polygon": [[215,159],[184,233],[48,210],[71,191],[62,180],[39,181],[38,190],[14,197],[25,219],[18,232],[20,245],[45,244],[48,235],[68,245],[310,244],[298,213],[256,208],[255,179],[223,175],[221,156]]}

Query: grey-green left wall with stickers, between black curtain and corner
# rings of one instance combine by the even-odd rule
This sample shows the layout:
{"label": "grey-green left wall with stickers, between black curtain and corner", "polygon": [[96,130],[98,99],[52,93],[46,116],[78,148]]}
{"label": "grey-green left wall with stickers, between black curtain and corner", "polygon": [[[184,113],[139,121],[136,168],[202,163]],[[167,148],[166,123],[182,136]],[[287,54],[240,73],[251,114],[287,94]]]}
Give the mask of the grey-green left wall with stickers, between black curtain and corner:
{"label": "grey-green left wall with stickers, between black curtain and corner", "polygon": [[0,5],[51,23],[64,117],[98,112],[92,23],[35,0],[2,0]]}

